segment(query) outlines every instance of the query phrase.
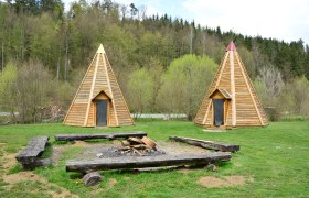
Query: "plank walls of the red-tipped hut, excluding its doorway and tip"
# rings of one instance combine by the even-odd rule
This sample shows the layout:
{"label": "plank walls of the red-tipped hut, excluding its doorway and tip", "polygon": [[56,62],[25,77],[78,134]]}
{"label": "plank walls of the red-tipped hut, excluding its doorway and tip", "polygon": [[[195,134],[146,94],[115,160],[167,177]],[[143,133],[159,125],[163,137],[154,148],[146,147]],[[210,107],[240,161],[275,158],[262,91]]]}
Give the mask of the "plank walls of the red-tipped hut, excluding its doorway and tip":
{"label": "plank walls of the red-tipped hut, excluding its doorway and tip", "polygon": [[[233,57],[228,57],[233,55]],[[231,63],[234,64],[234,79],[231,79]],[[219,68],[212,85],[209,88],[202,106],[200,107],[195,117],[194,123],[213,125],[213,108],[212,100],[209,95],[217,88],[224,88],[227,92],[231,91],[231,81],[235,85],[235,101],[236,101],[236,125],[265,125],[268,124],[264,108],[258,99],[258,96],[252,85],[252,81],[246,73],[246,69],[241,61],[238,53],[230,51],[225,53],[224,61]],[[226,103],[225,103],[226,105]],[[210,108],[209,108],[210,107]],[[225,125],[233,125],[232,123],[232,105],[225,107]],[[209,110],[207,110],[209,109]],[[262,121],[260,119],[262,118]]]}

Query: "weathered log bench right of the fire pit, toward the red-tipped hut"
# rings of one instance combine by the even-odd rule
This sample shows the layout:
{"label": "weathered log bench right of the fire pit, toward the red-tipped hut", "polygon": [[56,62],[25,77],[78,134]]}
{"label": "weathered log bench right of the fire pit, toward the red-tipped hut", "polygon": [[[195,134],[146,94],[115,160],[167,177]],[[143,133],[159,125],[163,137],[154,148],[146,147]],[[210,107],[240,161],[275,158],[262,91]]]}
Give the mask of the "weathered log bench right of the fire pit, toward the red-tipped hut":
{"label": "weathered log bench right of the fire pit, toward the red-tipped hut", "polygon": [[222,142],[214,142],[214,141],[204,141],[198,139],[189,139],[183,136],[170,136],[170,140],[174,140],[178,142],[184,142],[191,145],[196,145],[200,147],[204,147],[207,150],[215,150],[222,152],[237,152],[239,151],[241,146],[236,144],[226,144]]}

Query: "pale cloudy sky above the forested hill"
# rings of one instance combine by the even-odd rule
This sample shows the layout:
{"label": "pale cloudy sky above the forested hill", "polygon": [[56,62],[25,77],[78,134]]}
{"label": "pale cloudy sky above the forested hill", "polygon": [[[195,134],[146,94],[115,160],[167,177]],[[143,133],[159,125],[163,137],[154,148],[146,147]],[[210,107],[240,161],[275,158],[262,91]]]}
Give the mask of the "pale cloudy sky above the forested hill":
{"label": "pale cloudy sky above the forested hill", "polygon": [[[68,8],[74,0],[63,0]],[[189,22],[243,35],[309,44],[309,0],[114,0],[146,7],[146,14],[167,13]]]}

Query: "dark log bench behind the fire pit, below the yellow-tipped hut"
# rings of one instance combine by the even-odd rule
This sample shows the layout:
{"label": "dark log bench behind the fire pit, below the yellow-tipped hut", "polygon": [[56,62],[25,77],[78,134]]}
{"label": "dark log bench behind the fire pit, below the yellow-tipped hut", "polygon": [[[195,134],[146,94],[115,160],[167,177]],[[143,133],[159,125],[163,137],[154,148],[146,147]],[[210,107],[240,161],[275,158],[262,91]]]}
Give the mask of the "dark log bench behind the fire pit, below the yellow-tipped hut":
{"label": "dark log bench behind the fire pit, below the yellow-tipped hut", "polygon": [[145,132],[119,132],[119,133],[81,133],[81,134],[56,134],[56,141],[83,141],[92,139],[127,139],[129,136],[142,138],[147,136]]}

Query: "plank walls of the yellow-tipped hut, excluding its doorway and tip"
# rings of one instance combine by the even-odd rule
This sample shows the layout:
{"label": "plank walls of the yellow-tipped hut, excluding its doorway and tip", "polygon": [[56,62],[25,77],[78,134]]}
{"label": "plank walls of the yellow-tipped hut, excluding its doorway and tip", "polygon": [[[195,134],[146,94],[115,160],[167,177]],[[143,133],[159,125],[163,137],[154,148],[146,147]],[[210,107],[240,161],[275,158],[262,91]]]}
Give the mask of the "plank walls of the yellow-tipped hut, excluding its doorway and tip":
{"label": "plank walls of the yellow-tipped hut, excluding its doorway and tip", "polygon": [[[96,77],[94,77],[97,58],[99,58],[99,62]],[[95,81],[92,91],[93,80]],[[105,53],[96,53],[68,109],[64,123],[70,125],[84,125],[87,106],[90,102],[86,127],[95,127],[96,106],[92,99],[102,90],[110,96],[113,100],[113,102],[108,103],[108,125],[134,124],[129,109]],[[90,94],[92,96],[89,96]]]}

